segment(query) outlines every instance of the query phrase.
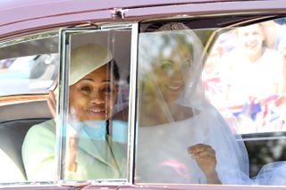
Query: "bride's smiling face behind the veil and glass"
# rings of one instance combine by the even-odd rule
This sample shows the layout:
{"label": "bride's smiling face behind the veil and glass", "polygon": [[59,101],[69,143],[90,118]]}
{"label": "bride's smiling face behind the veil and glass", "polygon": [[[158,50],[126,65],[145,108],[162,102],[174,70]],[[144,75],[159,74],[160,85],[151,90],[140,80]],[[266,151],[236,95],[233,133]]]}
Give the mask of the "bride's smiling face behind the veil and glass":
{"label": "bride's smiling face behind the veil and glass", "polygon": [[156,82],[164,100],[173,103],[186,87],[191,65],[190,53],[177,45],[171,54],[162,55],[156,61]]}

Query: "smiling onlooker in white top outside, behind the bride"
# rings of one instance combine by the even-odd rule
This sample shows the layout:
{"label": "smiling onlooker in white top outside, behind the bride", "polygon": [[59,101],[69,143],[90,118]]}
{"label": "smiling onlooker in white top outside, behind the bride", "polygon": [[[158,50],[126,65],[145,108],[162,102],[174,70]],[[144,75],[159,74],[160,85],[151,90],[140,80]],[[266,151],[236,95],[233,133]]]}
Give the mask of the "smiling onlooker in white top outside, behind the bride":
{"label": "smiling onlooker in white top outside, behind the bride", "polygon": [[270,126],[261,128],[268,112],[264,109],[282,91],[282,57],[265,46],[263,31],[261,24],[237,29],[239,45],[223,58],[225,98],[235,108],[241,127],[247,127],[240,128],[242,133],[272,130]]}

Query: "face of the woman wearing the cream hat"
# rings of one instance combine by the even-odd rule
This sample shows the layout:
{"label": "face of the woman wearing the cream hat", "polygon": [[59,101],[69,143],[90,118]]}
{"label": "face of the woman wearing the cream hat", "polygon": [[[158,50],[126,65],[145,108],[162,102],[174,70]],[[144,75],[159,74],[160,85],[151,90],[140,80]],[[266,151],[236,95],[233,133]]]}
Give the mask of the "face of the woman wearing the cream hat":
{"label": "face of the woman wearing the cream hat", "polygon": [[106,120],[113,115],[117,92],[105,65],[70,87],[70,112],[80,121]]}

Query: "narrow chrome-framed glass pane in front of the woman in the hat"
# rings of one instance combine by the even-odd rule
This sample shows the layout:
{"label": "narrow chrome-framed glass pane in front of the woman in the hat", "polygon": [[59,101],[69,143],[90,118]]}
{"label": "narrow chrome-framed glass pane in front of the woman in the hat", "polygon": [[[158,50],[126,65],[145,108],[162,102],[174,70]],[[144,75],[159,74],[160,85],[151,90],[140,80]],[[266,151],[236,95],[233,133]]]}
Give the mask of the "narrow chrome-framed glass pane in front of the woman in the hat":
{"label": "narrow chrome-framed glass pane in front of the woman in the hat", "polygon": [[127,178],[130,29],[71,34],[62,178]]}

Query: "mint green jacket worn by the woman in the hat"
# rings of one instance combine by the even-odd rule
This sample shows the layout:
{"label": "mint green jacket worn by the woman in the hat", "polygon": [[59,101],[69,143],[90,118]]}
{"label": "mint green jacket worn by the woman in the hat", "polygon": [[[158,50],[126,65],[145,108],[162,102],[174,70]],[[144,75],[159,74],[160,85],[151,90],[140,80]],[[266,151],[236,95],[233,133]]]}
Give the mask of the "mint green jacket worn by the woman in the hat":
{"label": "mint green jacket worn by the woman in the hat", "polygon": [[[55,120],[47,120],[29,129],[23,145],[22,157],[29,181],[54,181]],[[92,139],[85,131],[80,132],[77,154],[77,170],[64,179],[87,180],[126,178],[126,144],[105,139]]]}

